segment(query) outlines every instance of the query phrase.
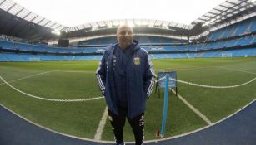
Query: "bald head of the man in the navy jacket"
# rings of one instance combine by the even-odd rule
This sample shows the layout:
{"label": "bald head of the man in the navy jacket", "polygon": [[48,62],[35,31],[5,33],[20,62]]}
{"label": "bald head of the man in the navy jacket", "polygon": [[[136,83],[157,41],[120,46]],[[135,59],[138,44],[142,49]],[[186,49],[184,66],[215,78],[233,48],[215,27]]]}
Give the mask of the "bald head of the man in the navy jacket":
{"label": "bald head of the man in the navy jacket", "polygon": [[128,25],[119,26],[117,39],[120,48],[125,49],[130,46],[133,43],[133,28]]}

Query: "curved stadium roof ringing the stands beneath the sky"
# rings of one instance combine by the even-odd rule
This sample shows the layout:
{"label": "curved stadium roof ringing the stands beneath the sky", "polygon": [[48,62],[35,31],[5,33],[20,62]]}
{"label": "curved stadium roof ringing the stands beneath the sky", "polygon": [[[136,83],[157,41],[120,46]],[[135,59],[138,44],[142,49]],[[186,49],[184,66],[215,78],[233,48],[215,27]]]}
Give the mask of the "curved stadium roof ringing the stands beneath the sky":
{"label": "curved stadium roof ringing the stands beneath the sky", "polygon": [[[151,34],[158,33],[162,35],[187,36],[187,30],[189,29],[189,35],[198,36],[213,27],[218,27],[226,23],[230,24],[232,21],[237,22],[241,17],[243,20],[244,16],[256,16],[256,6],[253,0],[227,0],[225,2],[221,0],[221,2],[222,3],[217,7],[214,7],[209,12],[203,14],[203,16],[198,17],[190,24],[157,19],[113,19],[87,22],[75,27],[67,27],[29,11],[12,0],[0,0],[0,29],[4,29],[4,32],[1,30],[0,33],[33,40],[51,40],[58,39],[56,34],[58,34],[59,31],[63,31],[67,34],[65,35],[66,37],[106,35],[108,33],[113,34],[115,32],[113,28],[116,28],[123,23],[127,23],[128,25],[133,26],[134,29],[136,29],[136,27],[148,28],[138,30],[139,33],[148,32]],[[163,3],[160,4],[163,5]],[[199,5],[199,7],[202,6]],[[187,10],[183,11],[187,14],[195,12],[188,12]],[[140,11],[136,12],[139,13]],[[179,16],[179,12],[175,13],[175,15]],[[160,14],[163,14],[163,12],[160,12]],[[167,17],[167,19],[168,18],[169,17]],[[81,19],[83,19],[83,17],[81,17]]]}

